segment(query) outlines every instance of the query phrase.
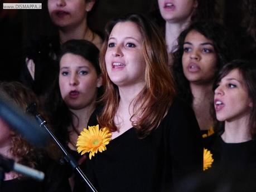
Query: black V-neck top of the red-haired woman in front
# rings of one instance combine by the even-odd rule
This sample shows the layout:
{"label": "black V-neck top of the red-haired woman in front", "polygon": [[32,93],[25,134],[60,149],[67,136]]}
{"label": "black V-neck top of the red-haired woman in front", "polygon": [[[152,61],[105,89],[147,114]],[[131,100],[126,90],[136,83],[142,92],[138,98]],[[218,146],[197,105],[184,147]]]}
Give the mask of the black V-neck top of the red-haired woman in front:
{"label": "black V-neck top of the red-haired woman in front", "polygon": [[181,101],[173,102],[146,138],[138,139],[132,127],[86,160],[86,176],[98,191],[170,191],[183,177],[201,170],[199,126]]}

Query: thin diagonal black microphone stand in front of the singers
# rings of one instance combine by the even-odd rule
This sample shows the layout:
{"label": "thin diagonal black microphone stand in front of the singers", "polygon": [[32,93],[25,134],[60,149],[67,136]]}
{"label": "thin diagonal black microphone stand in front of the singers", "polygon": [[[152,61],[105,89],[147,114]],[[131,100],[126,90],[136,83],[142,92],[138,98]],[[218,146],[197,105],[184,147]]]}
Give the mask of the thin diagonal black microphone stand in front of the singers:
{"label": "thin diagonal black microphone stand in front of the singers", "polygon": [[81,178],[83,178],[83,180],[85,181],[85,183],[89,186],[89,188],[91,189],[91,191],[93,192],[97,192],[97,190],[94,188],[93,184],[90,183],[89,179],[85,176],[85,174],[83,173],[83,171],[79,168],[79,165],[77,163],[77,161],[74,159],[73,156],[71,156],[69,154],[69,152],[66,151],[65,147],[62,146],[62,144],[60,143],[59,140],[57,140],[57,138],[55,137],[55,135],[52,133],[52,131],[49,129],[49,127],[47,127],[47,122],[44,120],[44,118],[36,111],[36,104],[33,103],[30,106],[27,107],[27,111],[31,112],[33,115],[35,115],[35,118],[37,120],[37,122],[40,124],[40,127],[44,127],[47,132],[49,132],[50,136],[52,137],[52,139],[56,142],[57,146],[59,146],[59,148],[61,149],[61,151],[64,154],[64,159],[67,161],[67,163],[70,164],[70,166],[76,170],[76,172],[81,176]]}

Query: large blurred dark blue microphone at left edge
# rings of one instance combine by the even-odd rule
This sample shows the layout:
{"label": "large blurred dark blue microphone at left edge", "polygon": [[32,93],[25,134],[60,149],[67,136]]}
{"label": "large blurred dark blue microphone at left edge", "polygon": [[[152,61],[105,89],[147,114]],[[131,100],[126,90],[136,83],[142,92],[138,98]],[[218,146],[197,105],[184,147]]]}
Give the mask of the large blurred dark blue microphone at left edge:
{"label": "large blurred dark blue microphone at left edge", "polygon": [[37,122],[26,115],[4,93],[0,93],[0,117],[32,144],[37,146],[46,145],[48,136],[46,131],[40,129]]}

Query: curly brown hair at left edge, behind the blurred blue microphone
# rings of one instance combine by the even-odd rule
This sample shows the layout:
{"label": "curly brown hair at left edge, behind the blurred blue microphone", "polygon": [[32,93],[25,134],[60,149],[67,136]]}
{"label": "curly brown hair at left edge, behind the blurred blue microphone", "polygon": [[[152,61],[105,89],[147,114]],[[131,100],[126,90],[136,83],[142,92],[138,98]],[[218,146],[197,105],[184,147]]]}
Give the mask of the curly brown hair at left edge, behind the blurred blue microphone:
{"label": "curly brown hair at left edge, behind the blurred blue microphone", "polygon": [[[44,112],[40,110],[36,95],[30,88],[25,87],[20,82],[0,82],[0,92],[4,93],[9,100],[13,101],[13,103],[20,107],[24,112],[26,112],[28,105],[32,102],[36,102],[40,114],[44,117],[46,116]],[[43,157],[43,150],[28,143],[23,139],[21,134],[11,127],[10,129],[12,130],[12,134],[9,152],[17,159],[17,163],[35,168]]]}

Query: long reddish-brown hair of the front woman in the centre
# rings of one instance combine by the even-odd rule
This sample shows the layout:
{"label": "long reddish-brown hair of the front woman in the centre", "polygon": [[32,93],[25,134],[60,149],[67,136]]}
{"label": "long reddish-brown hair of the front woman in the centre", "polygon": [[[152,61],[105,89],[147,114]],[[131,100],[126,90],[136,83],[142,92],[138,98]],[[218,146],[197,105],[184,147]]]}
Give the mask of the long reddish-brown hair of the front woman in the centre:
{"label": "long reddish-brown hair of the front woman in the centre", "polygon": [[[154,128],[160,124],[168,108],[176,95],[175,83],[171,71],[167,67],[168,56],[165,47],[165,40],[158,28],[147,18],[140,14],[128,14],[110,21],[105,28],[105,41],[100,53],[100,68],[103,74],[103,112],[98,118],[99,124],[108,127],[111,131],[117,131],[114,124],[114,116],[117,112],[120,95],[117,85],[109,78],[105,65],[105,53],[108,47],[109,35],[115,26],[120,22],[133,22],[142,33],[142,52],[146,62],[144,80],[146,85],[134,99],[134,111],[131,121],[137,129],[139,137],[146,137]],[[136,117],[136,121],[133,120]]]}

